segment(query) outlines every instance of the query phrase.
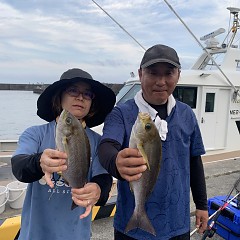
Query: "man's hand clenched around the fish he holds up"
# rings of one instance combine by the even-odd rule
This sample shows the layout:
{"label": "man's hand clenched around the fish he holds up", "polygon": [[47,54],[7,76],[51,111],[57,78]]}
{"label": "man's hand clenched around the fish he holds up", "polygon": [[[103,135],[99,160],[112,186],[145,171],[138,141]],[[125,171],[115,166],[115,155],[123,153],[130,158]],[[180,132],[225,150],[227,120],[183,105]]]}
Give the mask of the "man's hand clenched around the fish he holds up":
{"label": "man's hand clenched around the fish he holds up", "polygon": [[138,180],[147,169],[142,155],[134,148],[121,150],[117,155],[116,166],[121,177],[129,182]]}

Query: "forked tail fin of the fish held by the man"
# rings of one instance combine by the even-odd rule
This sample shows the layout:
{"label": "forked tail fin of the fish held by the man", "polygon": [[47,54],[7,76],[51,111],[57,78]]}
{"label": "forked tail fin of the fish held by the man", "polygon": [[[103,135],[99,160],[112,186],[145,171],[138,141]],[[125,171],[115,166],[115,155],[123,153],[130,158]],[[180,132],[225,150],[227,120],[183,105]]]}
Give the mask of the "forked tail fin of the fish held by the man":
{"label": "forked tail fin of the fish held by the man", "polygon": [[155,229],[152,226],[152,223],[150,222],[147,213],[145,211],[139,212],[134,210],[132,217],[128,221],[128,224],[125,228],[125,233],[129,232],[130,230],[133,230],[135,228],[140,228],[143,231],[146,231],[148,233],[151,233],[152,235],[156,236]]}

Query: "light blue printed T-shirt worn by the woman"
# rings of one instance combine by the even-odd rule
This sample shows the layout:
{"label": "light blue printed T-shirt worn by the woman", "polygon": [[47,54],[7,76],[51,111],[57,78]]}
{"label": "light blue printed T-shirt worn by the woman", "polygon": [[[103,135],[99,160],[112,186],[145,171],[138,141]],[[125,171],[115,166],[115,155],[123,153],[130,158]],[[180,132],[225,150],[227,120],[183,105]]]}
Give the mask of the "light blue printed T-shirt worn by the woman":
{"label": "light blue printed T-shirt worn by the woman", "polygon": [[[86,133],[91,146],[90,179],[107,172],[100,165],[97,155],[100,135],[89,128],[86,128]],[[56,149],[55,121],[25,130],[19,138],[14,155],[41,153],[46,148]],[[44,178],[28,184],[18,240],[90,239],[91,214],[80,219],[85,208],[71,210],[71,188],[56,173],[53,174],[52,181],[56,186],[54,189],[46,184]]]}

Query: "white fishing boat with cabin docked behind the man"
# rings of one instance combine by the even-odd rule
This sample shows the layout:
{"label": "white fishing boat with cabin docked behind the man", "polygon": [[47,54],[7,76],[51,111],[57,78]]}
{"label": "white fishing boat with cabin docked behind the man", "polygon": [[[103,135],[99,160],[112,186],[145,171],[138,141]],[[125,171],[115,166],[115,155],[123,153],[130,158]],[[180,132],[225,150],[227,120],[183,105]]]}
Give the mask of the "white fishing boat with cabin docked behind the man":
{"label": "white fishing boat with cabin docked behind the man", "polygon": [[[196,114],[207,155],[235,152],[240,154],[240,49],[234,44],[239,29],[239,8],[228,8],[233,25],[224,42],[216,37],[220,28],[200,40],[203,53],[189,70],[182,70],[173,95],[188,104]],[[228,41],[227,41],[228,39]],[[140,90],[139,78],[130,79],[117,95],[117,104],[131,99]],[[101,132],[101,127],[96,131]]]}

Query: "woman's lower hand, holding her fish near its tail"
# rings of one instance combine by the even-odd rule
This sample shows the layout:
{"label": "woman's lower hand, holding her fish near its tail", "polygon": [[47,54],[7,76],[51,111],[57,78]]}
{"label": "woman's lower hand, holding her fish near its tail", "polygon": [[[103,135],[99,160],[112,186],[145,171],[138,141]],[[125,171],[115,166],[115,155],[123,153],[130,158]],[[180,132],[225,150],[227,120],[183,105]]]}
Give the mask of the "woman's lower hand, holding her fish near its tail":
{"label": "woman's lower hand, holding her fish near its tail", "polygon": [[87,183],[83,188],[72,188],[72,200],[81,207],[86,207],[85,213],[80,215],[80,219],[87,217],[92,207],[97,203],[101,195],[101,188],[97,183]]}

